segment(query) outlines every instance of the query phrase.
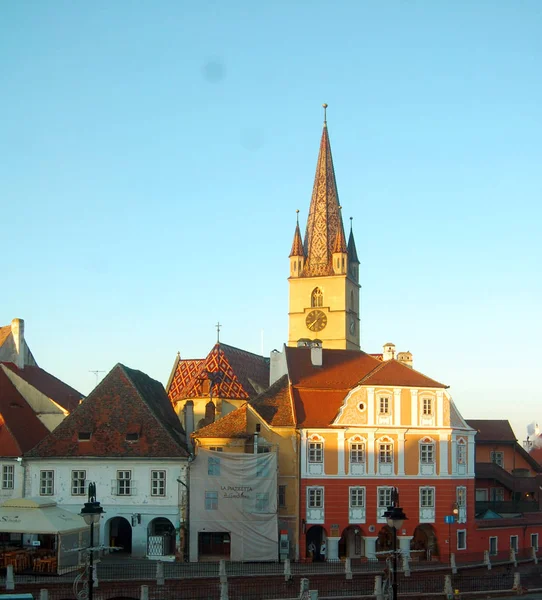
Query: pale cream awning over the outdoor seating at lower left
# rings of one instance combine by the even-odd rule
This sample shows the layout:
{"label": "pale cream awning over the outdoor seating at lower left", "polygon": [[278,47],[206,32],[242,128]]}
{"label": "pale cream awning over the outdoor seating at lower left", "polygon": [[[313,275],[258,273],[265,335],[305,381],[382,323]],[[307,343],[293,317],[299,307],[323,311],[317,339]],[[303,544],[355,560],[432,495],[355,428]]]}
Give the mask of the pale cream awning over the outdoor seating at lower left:
{"label": "pale cream awning over the outdoor seating at lower left", "polygon": [[59,534],[87,528],[83,517],[43,498],[15,498],[0,504],[0,532]]}

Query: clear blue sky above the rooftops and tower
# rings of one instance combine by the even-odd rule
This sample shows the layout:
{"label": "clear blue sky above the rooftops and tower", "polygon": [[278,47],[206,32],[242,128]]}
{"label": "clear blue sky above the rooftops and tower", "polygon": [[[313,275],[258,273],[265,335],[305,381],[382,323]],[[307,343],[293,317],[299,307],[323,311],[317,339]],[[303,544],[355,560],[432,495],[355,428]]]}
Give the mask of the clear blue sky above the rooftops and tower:
{"label": "clear blue sky above the rooftops and tower", "polygon": [[2,324],[84,393],[117,362],[287,338],[328,123],[363,347],[466,418],[540,419],[542,2],[0,7]]}

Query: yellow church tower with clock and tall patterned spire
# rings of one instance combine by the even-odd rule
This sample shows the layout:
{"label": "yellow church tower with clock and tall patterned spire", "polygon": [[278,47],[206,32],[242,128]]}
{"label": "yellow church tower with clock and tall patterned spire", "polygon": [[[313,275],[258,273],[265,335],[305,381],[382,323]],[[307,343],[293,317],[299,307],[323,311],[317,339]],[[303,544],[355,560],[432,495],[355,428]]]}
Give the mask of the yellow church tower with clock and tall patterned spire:
{"label": "yellow church tower with clock and tall patterned spire", "polygon": [[344,234],[326,108],[305,239],[298,216],[290,252],[288,345],[321,340],[324,348],[359,350],[359,260],[352,224],[348,244]]}

